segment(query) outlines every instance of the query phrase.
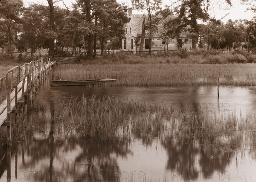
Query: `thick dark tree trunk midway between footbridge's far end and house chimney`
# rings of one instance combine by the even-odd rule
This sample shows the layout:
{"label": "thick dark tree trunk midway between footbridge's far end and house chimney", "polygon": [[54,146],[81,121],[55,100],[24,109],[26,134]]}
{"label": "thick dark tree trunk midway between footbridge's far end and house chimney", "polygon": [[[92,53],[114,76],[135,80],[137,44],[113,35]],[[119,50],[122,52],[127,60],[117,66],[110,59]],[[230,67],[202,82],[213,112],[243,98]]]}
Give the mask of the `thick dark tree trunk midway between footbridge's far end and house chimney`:
{"label": "thick dark tree trunk midway between footbridge's far end and house chimney", "polygon": [[[88,24],[91,23],[91,0],[86,0],[85,1],[85,6],[86,6],[86,22]],[[87,57],[91,59],[93,56],[93,36],[91,33],[87,36]]]}

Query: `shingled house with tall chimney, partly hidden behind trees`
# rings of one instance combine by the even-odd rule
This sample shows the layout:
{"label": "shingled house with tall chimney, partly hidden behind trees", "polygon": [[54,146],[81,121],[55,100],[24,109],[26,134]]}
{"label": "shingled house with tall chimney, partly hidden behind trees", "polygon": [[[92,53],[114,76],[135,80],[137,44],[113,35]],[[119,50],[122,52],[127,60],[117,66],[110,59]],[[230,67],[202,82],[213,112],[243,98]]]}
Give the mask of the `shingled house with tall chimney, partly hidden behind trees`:
{"label": "shingled house with tall chimney, partly hidden behind trees", "polygon": [[[132,8],[128,8],[128,17],[131,18],[129,23],[126,23],[124,26],[125,29],[125,38],[122,39],[122,50],[123,51],[136,51],[136,46],[134,42],[134,37],[137,34],[141,34],[142,31],[142,22],[143,22],[143,14],[133,14]],[[154,32],[154,37],[152,39],[152,47],[151,50],[163,50],[164,46],[165,49],[168,50],[176,50],[176,49],[191,49],[192,42],[191,40],[187,40],[186,35],[181,35],[179,38],[169,38],[168,46],[166,45],[165,41],[163,40],[163,36],[161,35],[161,29],[163,26],[159,25],[158,31]],[[139,47],[137,50],[139,51]],[[149,50],[149,39],[145,37],[144,44],[143,44],[143,51]]]}

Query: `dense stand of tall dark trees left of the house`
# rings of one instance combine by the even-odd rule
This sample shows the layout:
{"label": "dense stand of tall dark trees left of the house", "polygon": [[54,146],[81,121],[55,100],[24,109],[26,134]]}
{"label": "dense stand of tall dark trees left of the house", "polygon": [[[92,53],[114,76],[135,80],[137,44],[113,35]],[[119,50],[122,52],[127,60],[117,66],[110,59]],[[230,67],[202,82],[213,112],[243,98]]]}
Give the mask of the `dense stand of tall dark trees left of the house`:
{"label": "dense stand of tall dark trees left of the house", "polygon": [[72,48],[75,55],[87,50],[89,57],[96,49],[120,48],[123,26],[130,19],[127,7],[113,0],[77,0],[72,10],[54,5],[33,4],[23,7],[22,0],[0,3],[0,47],[12,57],[19,52],[49,49],[49,55]]}

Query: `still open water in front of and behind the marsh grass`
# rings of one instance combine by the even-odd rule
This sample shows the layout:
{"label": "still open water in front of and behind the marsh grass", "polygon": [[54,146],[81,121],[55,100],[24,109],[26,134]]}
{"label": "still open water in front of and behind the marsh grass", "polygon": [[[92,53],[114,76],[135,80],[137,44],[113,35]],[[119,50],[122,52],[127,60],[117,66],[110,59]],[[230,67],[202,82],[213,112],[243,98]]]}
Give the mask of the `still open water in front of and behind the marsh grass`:
{"label": "still open water in front of and behind the marsh grass", "polygon": [[[71,96],[114,96],[164,104],[174,110],[203,111],[221,117],[256,112],[252,87],[50,87],[38,93],[46,103],[58,104]],[[50,127],[47,113],[32,113],[35,128]],[[40,127],[38,127],[40,126]],[[0,149],[0,181],[256,181],[256,129],[236,149],[227,145],[189,144],[186,133],[162,142],[140,137],[131,141],[112,139],[49,139],[40,129],[12,149]],[[250,139],[249,139],[250,138]],[[221,136],[215,140],[222,141]],[[53,142],[54,141],[54,142]],[[11,163],[8,164],[8,157]]]}

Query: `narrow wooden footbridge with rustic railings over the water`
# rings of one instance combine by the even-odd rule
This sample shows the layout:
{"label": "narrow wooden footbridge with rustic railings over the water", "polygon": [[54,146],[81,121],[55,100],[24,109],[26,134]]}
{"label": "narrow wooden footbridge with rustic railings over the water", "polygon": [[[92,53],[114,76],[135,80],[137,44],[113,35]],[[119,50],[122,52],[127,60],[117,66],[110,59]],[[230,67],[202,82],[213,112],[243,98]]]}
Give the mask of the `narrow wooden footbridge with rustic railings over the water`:
{"label": "narrow wooden footbridge with rustic railings over the water", "polygon": [[0,105],[0,127],[7,127],[7,144],[12,145],[12,123],[26,119],[27,104],[32,103],[36,90],[56,63],[51,57],[16,66],[0,78],[0,89],[5,88],[6,99]]}

